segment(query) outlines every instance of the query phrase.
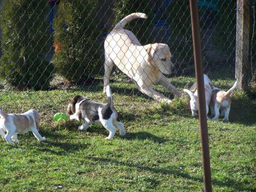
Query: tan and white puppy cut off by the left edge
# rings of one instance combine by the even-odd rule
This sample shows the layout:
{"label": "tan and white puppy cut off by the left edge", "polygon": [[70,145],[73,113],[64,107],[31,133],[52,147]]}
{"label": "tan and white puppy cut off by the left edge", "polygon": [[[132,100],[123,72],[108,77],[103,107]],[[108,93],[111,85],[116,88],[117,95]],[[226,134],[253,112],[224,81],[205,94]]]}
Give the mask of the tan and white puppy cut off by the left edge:
{"label": "tan and white puppy cut off by the left edge", "polygon": [[32,131],[39,141],[45,141],[46,139],[38,132],[39,119],[38,112],[33,109],[22,114],[6,114],[0,110],[0,135],[7,143],[12,143],[12,141],[19,143],[17,134],[25,134],[28,131]]}

